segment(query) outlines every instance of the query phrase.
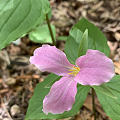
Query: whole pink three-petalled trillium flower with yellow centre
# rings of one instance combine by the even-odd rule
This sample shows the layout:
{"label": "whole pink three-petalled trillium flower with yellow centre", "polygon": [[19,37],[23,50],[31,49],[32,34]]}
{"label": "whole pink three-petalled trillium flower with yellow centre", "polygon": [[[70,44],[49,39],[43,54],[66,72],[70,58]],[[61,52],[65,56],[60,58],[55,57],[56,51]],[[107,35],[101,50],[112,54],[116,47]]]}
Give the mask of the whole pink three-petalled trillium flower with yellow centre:
{"label": "whole pink three-petalled trillium flower with yellow centre", "polygon": [[34,51],[30,62],[42,72],[48,71],[63,76],[53,84],[43,100],[45,114],[61,114],[71,110],[75,102],[77,83],[101,85],[109,82],[115,74],[112,60],[104,53],[91,49],[76,60],[76,65],[72,65],[64,52],[55,46],[43,45]]}

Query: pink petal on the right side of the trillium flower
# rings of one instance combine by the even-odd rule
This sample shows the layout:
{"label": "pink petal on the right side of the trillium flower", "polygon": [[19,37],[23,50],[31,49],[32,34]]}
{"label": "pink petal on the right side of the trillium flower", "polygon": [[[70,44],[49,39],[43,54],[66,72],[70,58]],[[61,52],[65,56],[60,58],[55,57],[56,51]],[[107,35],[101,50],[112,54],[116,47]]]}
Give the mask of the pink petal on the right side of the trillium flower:
{"label": "pink petal on the right side of the trillium flower", "polygon": [[86,55],[76,60],[76,64],[80,72],[75,81],[82,85],[100,85],[109,82],[115,75],[112,60],[98,50],[88,50]]}

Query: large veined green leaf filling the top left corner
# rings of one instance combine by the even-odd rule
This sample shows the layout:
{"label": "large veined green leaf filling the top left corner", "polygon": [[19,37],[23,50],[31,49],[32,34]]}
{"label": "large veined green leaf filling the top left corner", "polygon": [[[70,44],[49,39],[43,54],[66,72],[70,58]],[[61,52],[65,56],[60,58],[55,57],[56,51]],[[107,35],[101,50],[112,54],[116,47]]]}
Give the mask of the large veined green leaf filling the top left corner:
{"label": "large veined green leaf filling the top left corner", "polygon": [[0,49],[43,23],[50,12],[48,0],[11,1],[0,0]]}

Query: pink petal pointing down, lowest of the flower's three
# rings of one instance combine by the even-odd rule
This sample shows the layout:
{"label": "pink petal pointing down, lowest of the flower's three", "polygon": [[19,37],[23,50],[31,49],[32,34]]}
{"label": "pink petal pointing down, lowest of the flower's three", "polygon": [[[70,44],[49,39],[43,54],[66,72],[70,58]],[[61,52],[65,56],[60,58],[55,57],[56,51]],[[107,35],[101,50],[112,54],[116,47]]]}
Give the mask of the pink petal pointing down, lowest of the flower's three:
{"label": "pink petal pointing down, lowest of the flower's three", "polygon": [[61,114],[71,110],[76,93],[77,82],[73,80],[73,77],[62,77],[53,84],[49,94],[44,98],[43,112]]}

